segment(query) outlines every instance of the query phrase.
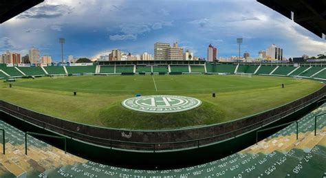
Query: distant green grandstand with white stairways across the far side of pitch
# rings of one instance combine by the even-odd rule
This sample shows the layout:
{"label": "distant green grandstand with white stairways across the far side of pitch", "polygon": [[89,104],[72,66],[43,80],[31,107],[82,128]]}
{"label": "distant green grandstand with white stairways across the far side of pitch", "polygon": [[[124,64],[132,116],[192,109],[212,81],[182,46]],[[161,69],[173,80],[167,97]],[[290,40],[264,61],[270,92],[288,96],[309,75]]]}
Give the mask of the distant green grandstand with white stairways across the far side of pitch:
{"label": "distant green grandstand with white stairways across the far side of pitch", "polygon": [[74,74],[256,74],[272,76],[298,76],[325,80],[325,67],[316,64],[265,63],[104,63],[89,66],[0,67],[0,78],[22,76],[74,75]]}

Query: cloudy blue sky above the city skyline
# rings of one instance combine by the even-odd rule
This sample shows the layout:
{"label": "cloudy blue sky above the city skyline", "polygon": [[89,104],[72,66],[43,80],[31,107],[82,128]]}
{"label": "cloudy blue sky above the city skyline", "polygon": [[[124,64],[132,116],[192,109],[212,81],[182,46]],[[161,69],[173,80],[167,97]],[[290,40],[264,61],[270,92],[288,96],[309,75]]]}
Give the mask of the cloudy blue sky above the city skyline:
{"label": "cloudy blue sky above the city skyline", "polygon": [[271,44],[283,56],[325,54],[326,41],[254,0],[45,0],[0,24],[0,53],[41,55],[61,59],[58,38],[65,38],[64,58],[94,58],[121,49],[153,54],[154,43],[175,43],[195,56],[207,57],[211,43],[218,56],[258,56]]}

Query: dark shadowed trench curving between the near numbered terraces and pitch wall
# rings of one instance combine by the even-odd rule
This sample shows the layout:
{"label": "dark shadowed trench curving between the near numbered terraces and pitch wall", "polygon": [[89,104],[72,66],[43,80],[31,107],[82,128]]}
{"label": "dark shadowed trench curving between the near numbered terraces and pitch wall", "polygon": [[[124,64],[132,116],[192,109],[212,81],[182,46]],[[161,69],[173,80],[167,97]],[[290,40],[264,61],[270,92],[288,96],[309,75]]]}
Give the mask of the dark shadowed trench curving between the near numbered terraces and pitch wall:
{"label": "dark shadowed trench curving between the near numbered terraces and pitch wall", "polygon": [[[312,102],[306,103],[305,107],[297,109],[295,112],[290,114],[284,115],[279,120],[271,122],[270,124],[265,124],[258,129],[267,129],[272,126],[297,120],[298,118],[301,118],[301,116],[315,109],[317,107],[318,100],[322,100],[323,98],[324,97],[320,97],[317,100],[312,100]],[[1,106],[1,110],[1,120],[16,126],[22,131],[65,136],[63,134],[56,133],[51,129],[45,128],[45,126],[41,126],[41,124],[34,124],[30,122],[31,120],[27,120],[24,117],[19,117],[18,115],[15,115],[14,112],[10,113],[10,111],[3,108],[3,106]],[[259,140],[263,140],[263,138],[272,135],[272,133],[279,131],[280,129],[282,128],[272,129],[259,134]],[[182,148],[172,151],[128,151],[127,149],[100,146],[98,144],[85,142],[73,137],[65,137],[67,137],[67,151],[74,155],[78,155],[79,157],[83,157],[94,162],[100,162],[102,164],[109,164],[111,166],[123,168],[164,170],[169,168],[183,168],[187,166],[204,164],[206,162],[221,159],[231,155],[232,153],[237,153],[238,151],[241,151],[242,149],[256,143],[256,131],[257,129],[250,129],[246,133],[239,135],[235,134],[234,137],[228,137],[226,140],[220,142],[213,142],[205,146],[198,146],[197,148]],[[129,135],[129,133],[125,133],[125,135]],[[62,140],[47,137],[37,138],[58,148],[64,149]],[[159,145],[157,144],[157,146]]]}

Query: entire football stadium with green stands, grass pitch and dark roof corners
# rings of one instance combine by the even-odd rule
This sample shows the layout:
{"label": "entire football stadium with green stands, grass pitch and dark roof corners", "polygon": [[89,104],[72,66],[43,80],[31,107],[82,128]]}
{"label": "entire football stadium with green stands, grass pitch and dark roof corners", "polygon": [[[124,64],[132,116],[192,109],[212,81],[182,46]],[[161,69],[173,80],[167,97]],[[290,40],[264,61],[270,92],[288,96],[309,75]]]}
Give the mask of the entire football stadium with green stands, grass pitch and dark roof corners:
{"label": "entire football stadium with green stands, grass pitch and dark roof corners", "polygon": [[[39,3],[0,3],[1,23]],[[326,177],[325,65],[0,64],[0,177]]]}

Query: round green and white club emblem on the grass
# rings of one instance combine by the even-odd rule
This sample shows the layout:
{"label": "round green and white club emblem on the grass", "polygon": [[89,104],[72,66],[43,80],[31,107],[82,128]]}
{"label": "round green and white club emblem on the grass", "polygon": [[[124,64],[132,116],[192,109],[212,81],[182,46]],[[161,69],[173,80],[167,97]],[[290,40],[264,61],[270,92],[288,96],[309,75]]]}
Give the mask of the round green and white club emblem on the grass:
{"label": "round green and white club emblem on the grass", "polygon": [[145,113],[177,113],[195,109],[202,101],[187,96],[154,95],[128,98],[121,104],[127,109]]}

